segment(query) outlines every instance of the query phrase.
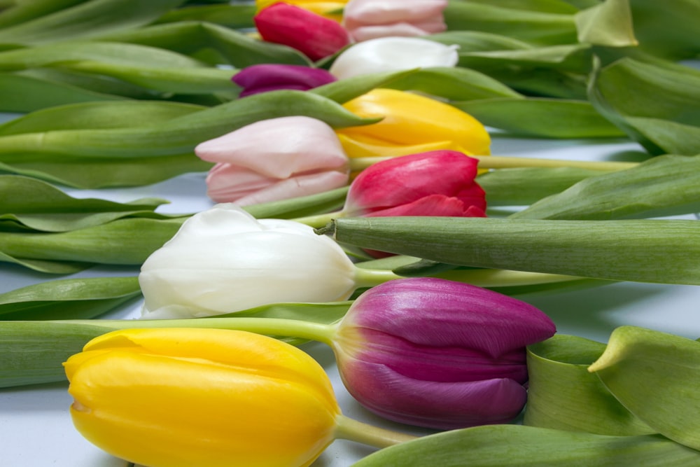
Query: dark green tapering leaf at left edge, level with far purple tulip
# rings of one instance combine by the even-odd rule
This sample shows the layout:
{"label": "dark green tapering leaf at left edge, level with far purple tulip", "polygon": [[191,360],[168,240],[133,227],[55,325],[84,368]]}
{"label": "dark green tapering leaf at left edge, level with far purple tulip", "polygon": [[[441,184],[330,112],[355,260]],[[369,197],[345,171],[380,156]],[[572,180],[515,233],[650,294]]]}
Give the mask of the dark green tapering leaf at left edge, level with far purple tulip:
{"label": "dark green tapering leaf at left edge, level with far purple tulip", "polygon": [[125,97],[104,94],[66,83],[0,73],[0,111],[32,112],[74,102],[109,102]]}

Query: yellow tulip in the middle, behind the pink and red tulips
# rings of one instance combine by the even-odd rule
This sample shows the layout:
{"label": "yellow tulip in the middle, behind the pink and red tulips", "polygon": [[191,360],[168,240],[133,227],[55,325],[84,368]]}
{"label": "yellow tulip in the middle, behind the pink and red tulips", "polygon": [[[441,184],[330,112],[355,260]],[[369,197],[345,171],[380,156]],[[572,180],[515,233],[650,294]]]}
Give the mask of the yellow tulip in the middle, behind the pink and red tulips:
{"label": "yellow tulip in the middle, behind the pink and red tulips", "polygon": [[412,92],[375,89],[344,107],[378,123],[336,130],[350,158],[423,153],[440,149],[488,155],[491,138],[484,125],[444,102]]}

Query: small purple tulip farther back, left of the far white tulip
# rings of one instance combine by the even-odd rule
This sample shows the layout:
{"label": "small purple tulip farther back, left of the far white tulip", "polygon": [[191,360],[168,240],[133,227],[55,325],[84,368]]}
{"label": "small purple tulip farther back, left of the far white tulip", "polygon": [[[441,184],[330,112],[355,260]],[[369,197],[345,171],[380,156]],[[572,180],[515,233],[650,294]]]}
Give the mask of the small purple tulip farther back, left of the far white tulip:
{"label": "small purple tulip farther back, left of the far white tulip", "polygon": [[335,76],[324,69],[275,63],[246,67],[231,79],[243,88],[239,97],[280,89],[306,91],[336,81]]}

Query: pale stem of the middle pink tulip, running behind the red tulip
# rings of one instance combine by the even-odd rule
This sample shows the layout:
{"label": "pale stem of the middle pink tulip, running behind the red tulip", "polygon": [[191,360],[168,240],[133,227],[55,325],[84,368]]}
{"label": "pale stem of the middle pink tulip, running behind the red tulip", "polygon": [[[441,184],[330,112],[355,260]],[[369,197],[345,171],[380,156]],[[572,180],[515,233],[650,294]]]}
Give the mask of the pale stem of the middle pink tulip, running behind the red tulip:
{"label": "pale stem of the middle pink tulip, running behind the red tulip", "polygon": [[[637,162],[594,162],[587,160],[559,160],[559,159],[537,159],[519,158],[503,155],[470,155],[470,158],[479,160],[480,169],[511,169],[517,167],[575,167],[579,169],[601,170],[614,172],[616,170],[630,169],[636,167]],[[351,158],[350,169],[357,172],[370,165],[388,160],[391,157],[377,158]]]}

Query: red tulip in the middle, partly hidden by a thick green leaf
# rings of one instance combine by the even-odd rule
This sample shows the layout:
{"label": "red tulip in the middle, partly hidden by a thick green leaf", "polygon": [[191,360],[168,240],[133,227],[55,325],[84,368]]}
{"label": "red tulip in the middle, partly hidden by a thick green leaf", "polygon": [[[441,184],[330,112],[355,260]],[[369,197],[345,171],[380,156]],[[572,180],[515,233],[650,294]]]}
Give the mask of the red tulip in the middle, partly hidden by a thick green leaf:
{"label": "red tulip in the middle, partly hidden by a thick green leaf", "polygon": [[475,182],[478,160],[458,151],[429,151],[377,162],[352,182],[346,216],[486,216]]}

